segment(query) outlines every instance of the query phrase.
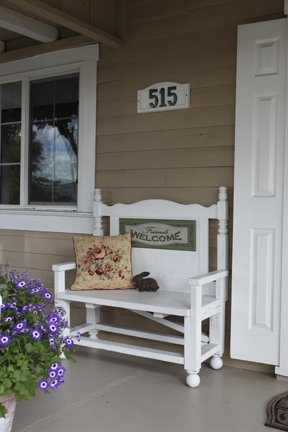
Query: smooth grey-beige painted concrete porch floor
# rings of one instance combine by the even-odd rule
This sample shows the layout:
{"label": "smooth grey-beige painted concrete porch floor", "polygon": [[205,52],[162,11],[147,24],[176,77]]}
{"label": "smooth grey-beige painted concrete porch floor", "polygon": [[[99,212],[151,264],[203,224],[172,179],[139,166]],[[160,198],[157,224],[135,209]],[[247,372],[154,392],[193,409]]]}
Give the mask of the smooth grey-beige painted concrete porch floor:
{"label": "smooth grey-beige painted concrete porch floor", "polygon": [[268,432],[266,404],[288,391],[275,376],[204,364],[197,388],[183,366],[86,349],[65,384],[17,403],[12,432]]}

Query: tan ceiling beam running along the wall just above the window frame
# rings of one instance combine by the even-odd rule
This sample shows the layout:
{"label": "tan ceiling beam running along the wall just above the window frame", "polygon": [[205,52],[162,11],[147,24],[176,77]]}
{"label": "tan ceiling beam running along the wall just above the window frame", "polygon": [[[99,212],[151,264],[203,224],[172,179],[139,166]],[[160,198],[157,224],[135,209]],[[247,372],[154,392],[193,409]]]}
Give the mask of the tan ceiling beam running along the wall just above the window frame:
{"label": "tan ceiling beam running along the wall just above the window frame", "polygon": [[54,42],[39,43],[25,48],[2,52],[0,54],[0,63],[32,57],[33,55],[46,54],[51,51],[59,51],[60,49],[76,48],[92,43],[95,43],[94,40],[82,35],[66,37],[65,39],[55,40]]}

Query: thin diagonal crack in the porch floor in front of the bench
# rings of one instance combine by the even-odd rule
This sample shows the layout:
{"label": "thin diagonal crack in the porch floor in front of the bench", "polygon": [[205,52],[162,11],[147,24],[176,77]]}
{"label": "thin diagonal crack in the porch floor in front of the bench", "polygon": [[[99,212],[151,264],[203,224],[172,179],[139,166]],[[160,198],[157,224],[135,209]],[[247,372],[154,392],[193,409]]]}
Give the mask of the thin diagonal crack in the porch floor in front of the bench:
{"label": "thin diagonal crack in the porch floor in front of the bench", "polygon": [[84,403],[89,402],[92,400],[95,396],[98,396],[101,393],[104,393],[105,391],[109,390],[112,387],[115,387],[117,385],[120,385],[126,381],[129,381],[130,379],[137,378],[138,376],[142,376],[145,373],[144,369],[141,367],[136,372],[131,373],[130,375],[123,376],[122,378],[116,379],[109,384],[103,385],[101,388],[99,388],[97,391],[88,394],[83,399],[69,403],[68,405],[64,406],[63,408],[59,409],[58,411],[54,412],[53,414],[47,415],[46,417],[40,418],[39,420],[35,421],[34,423],[30,424],[29,426],[25,427],[24,429],[20,429],[19,432],[25,432],[26,430],[29,430],[29,432],[32,432],[33,430],[37,430],[38,426],[41,426],[43,424],[47,424],[52,420],[55,420],[56,418],[59,418],[61,415],[63,415],[65,412],[67,412],[71,408],[76,408],[78,406],[82,406]]}

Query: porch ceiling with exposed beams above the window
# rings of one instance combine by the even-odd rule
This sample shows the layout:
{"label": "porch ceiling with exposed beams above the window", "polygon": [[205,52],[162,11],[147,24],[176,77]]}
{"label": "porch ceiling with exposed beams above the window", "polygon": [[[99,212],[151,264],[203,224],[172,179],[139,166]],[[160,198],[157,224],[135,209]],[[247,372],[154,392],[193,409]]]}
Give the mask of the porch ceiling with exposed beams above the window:
{"label": "porch ceiling with exposed beams above the window", "polygon": [[[123,44],[122,39],[113,34],[41,0],[0,0],[0,8],[3,8],[4,15],[6,12],[11,15],[8,18],[0,16],[2,18],[0,22],[2,25],[0,27],[0,62],[12,60],[12,51],[15,53],[15,58],[27,56],[25,47],[31,45],[29,42],[31,39],[35,39],[37,50],[39,50],[39,41],[42,42],[43,52],[62,49],[63,40],[60,39],[67,37],[66,47],[75,46],[75,37],[79,37],[79,35],[83,39],[81,44],[101,42],[110,47],[119,47]],[[56,28],[58,29],[58,37],[56,36],[57,31],[54,30]],[[20,44],[23,46],[22,57],[19,49],[13,49],[14,42],[9,43],[9,41],[21,36],[30,38],[27,39],[26,37],[28,43]],[[51,42],[53,43],[51,44]]]}

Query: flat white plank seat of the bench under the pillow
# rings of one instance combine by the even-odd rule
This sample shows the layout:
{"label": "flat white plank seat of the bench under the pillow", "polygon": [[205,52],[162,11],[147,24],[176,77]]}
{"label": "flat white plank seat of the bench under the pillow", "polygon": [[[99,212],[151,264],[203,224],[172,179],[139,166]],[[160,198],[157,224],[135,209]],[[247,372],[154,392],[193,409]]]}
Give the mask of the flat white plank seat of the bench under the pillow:
{"label": "flat white plank seat of the bench under the pillow", "polygon": [[[57,299],[79,301],[125,309],[159,312],[176,316],[190,316],[190,293],[158,290],[139,292],[136,289],[65,291],[56,294]],[[220,300],[202,295],[202,314],[220,305]]]}

